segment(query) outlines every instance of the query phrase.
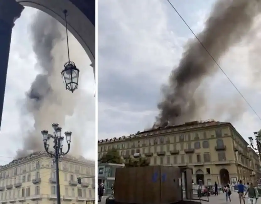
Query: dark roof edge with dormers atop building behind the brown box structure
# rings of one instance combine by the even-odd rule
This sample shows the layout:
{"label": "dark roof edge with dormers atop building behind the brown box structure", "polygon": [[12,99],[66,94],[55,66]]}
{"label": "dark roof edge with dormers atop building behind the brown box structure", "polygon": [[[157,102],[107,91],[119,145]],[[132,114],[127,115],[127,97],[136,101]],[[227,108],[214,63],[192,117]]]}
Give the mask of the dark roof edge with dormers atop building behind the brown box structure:
{"label": "dark roof edge with dormers atop building behind the brown box structure", "polygon": [[[136,134],[131,134],[129,136],[121,136],[121,137],[114,137],[110,139],[103,139],[103,140],[98,140],[98,145],[102,144],[110,144],[110,143],[115,143],[115,142],[124,142],[130,141],[132,139],[137,139],[141,137],[155,137],[155,136],[160,136],[166,134],[177,134],[179,132],[189,132],[192,130],[199,130],[199,129],[206,129],[206,128],[213,128],[215,126],[225,126],[225,125],[231,125],[229,122],[219,122],[219,121],[214,121],[214,120],[208,120],[208,121],[192,121],[192,122],[187,122],[184,123],[183,125],[178,125],[178,126],[167,126],[167,127],[159,127],[157,129],[151,129],[148,131],[143,131],[143,132],[137,132]],[[232,126],[232,125],[231,125]]]}

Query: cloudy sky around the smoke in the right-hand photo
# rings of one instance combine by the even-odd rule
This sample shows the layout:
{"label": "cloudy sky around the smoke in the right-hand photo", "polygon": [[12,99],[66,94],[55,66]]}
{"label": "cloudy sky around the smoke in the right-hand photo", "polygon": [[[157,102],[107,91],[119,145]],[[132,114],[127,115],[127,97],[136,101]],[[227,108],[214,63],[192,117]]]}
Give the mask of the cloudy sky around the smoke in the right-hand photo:
{"label": "cloudy sky around the smoke in the right-hand photo", "polygon": [[[215,1],[171,2],[199,33]],[[152,126],[162,84],[167,83],[193,35],[167,0],[99,1],[98,10],[98,138],[104,139]],[[231,47],[219,64],[261,115],[258,29],[259,16],[249,35]],[[261,121],[221,71],[202,85],[208,87],[208,111],[202,113],[202,120],[231,122],[247,141],[261,128]],[[234,105],[238,101],[240,106]],[[228,108],[214,115],[220,102]]]}

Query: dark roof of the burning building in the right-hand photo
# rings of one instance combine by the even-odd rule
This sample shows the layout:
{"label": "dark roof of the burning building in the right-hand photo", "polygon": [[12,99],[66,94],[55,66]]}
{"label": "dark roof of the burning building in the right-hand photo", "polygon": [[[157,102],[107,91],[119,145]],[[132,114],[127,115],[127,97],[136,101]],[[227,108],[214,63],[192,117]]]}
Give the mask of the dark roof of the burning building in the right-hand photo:
{"label": "dark roof of the burning building in the right-hand photo", "polygon": [[186,122],[182,125],[177,126],[166,126],[166,127],[158,127],[155,129],[149,129],[145,131],[138,131],[136,134],[131,134],[129,136],[121,136],[121,137],[114,137],[110,139],[103,139],[98,140],[98,144],[100,143],[110,143],[110,142],[116,142],[120,140],[125,139],[131,139],[136,137],[146,137],[146,136],[152,136],[152,135],[158,135],[160,133],[171,133],[171,132],[178,132],[178,131],[188,131],[191,129],[198,129],[203,127],[210,127],[210,126],[219,126],[219,125],[231,125],[229,122],[220,122],[220,121],[214,121],[213,119],[207,120],[207,121],[191,121]]}

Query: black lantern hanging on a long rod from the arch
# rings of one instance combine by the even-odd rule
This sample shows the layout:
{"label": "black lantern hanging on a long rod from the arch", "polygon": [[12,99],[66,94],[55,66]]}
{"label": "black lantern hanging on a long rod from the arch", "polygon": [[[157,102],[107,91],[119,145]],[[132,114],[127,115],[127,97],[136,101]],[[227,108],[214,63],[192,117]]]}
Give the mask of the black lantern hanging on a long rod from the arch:
{"label": "black lantern hanging on a long rod from the arch", "polygon": [[80,70],[76,67],[74,62],[70,61],[68,29],[67,29],[67,16],[68,16],[67,10],[64,10],[63,13],[65,16],[68,62],[64,64],[64,69],[61,71],[61,77],[63,78],[63,82],[66,86],[66,89],[68,89],[73,93],[78,88]]}

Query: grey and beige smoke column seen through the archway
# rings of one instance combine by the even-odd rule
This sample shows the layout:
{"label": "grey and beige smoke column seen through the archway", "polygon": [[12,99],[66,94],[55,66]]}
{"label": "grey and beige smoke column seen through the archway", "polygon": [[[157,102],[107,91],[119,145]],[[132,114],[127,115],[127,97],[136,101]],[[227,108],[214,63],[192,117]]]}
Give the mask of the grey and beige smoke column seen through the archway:
{"label": "grey and beige smoke column seen through the archway", "polygon": [[77,98],[77,93],[72,97],[65,90],[61,79],[60,72],[67,61],[65,28],[56,19],[38,12],[30,26],[30,33],[37,59],[35,68],[40,70],[40,74],[26,93],[25,108],[35,123],[34,130],[23,138],[23,149],[17,151],[17,157],[43,150],[40,131],[50,131],[51,123],[59,123],[62,127],[66,116],[73,114]]}

